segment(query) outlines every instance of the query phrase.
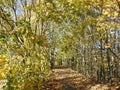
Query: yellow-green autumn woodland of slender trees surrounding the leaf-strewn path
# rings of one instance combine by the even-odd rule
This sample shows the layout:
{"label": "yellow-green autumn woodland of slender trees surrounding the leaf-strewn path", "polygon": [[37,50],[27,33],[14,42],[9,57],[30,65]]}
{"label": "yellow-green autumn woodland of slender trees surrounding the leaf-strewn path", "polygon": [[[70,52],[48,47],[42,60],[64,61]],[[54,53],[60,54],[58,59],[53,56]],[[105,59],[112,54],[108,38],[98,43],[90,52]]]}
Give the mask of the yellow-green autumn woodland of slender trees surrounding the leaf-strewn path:
{"label": "yellow-green autumn woodland of slender trees surrounding the leaf-strewn path", "polygon": [[40,89],[56,66],[120,81],[120,0],[0,0],[5,90]]}

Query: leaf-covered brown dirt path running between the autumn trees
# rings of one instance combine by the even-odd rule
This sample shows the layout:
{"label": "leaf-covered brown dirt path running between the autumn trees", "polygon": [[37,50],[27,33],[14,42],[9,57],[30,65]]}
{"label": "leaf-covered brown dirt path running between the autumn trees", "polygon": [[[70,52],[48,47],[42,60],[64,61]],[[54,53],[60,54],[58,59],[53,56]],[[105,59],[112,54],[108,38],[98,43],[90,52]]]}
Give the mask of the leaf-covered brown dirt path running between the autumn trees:
{"label": "leaf-covered brown dirt path running between the autumn trees", "polygon": [[53,72],[53,81],[46,84],[45,90],[120,90],[108,85],[95,84],[93,80],[70,68],[56,68]]}

